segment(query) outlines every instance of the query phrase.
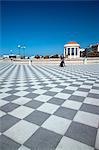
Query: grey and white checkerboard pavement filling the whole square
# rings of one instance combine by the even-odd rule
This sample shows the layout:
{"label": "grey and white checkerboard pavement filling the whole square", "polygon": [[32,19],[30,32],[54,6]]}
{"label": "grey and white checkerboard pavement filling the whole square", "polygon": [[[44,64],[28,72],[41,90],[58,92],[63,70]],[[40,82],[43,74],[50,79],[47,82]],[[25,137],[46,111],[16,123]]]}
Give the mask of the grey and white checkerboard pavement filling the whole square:
{"label": "grey and white checkerboard pavement filling the whole square", "polygon": [[99,64],[0,63],[0,150],[99,150]]}

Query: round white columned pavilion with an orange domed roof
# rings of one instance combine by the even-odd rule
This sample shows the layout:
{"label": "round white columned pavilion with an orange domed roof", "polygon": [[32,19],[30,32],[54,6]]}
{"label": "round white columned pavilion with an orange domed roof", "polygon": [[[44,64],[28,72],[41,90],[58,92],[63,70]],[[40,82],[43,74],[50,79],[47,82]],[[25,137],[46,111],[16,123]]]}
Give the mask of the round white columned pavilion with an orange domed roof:
{"label": "round white columned pavilion with an orange domed roof", "polygon": [[67,58],[79,58],[80,57],[80,45],[77,42],[71,41],[64,45],[64,57]]}

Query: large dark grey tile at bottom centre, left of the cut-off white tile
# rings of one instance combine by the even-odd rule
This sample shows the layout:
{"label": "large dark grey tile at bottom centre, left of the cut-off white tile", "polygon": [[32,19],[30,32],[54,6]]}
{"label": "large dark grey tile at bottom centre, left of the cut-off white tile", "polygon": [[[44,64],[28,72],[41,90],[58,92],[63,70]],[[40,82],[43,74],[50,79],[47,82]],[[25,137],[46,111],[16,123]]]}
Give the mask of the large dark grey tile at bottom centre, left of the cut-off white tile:
{"label": "large dark grey tile at bottom centre, left of the cut-off white tile", "polygon": [[24,145],[31,150],[55,150],[62,136],[44,128],[39,128]]}

